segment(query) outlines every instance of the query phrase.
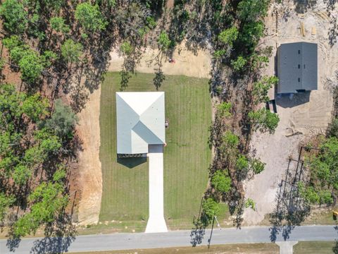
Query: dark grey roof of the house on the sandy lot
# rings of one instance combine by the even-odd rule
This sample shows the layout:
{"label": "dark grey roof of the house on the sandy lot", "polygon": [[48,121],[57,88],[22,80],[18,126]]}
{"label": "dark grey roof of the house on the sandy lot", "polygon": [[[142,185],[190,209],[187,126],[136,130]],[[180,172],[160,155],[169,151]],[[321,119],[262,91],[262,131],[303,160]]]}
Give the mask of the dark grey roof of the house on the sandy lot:
{"label": "dark grey roof of the house on the sandy lot", "polygon": [[318,47],[315,43],[281,44],[277,50],[277,93],[317,90]]}

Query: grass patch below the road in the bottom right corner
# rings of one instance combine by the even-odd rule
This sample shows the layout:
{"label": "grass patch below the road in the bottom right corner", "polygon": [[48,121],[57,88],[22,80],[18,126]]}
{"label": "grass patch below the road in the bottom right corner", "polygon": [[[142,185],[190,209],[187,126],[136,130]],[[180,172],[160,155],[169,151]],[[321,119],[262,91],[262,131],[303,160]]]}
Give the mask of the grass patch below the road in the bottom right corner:
{"label": "grass patch below the road in the bottom right corner", "polygon": [[338,253],[338,243],[334,241],[301,241],[294,246],[294,254]]}

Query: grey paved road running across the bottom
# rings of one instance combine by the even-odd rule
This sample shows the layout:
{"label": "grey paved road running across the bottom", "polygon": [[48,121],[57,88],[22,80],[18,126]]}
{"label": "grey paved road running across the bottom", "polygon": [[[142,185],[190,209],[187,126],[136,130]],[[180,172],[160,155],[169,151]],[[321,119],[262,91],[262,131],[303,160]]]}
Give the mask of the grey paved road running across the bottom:
{"label": "grey paved road running across the bottom", "polygon": [[[168,233],[134,233],[77,236],[76,238],[25,238],[13,248],[15,253],[58,253],[66,251],[125,250],[132,248],[161,248],[208,244],[211,231],[170,231]],[[243,227],[242,229],[214,229],[211,244],[268,243],[271,231],[268,227]],[[337,241],[338,229],[334,226],[299,226],[289,232],[283,229],[275,241]],[[0,240],[0,253],[12,253],[11,245]]]}

